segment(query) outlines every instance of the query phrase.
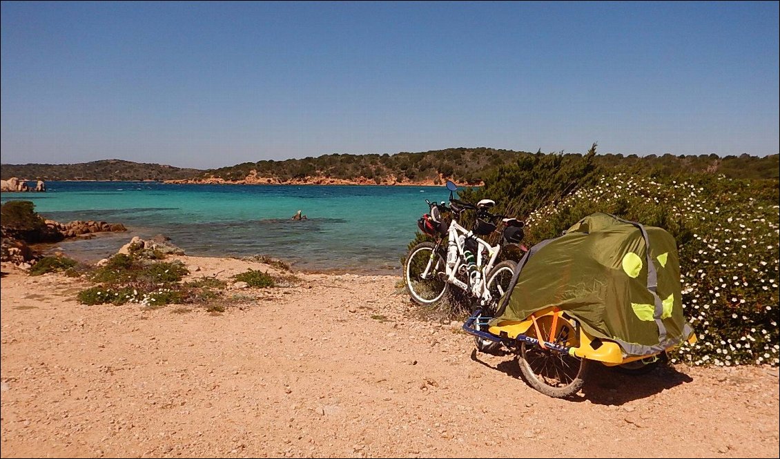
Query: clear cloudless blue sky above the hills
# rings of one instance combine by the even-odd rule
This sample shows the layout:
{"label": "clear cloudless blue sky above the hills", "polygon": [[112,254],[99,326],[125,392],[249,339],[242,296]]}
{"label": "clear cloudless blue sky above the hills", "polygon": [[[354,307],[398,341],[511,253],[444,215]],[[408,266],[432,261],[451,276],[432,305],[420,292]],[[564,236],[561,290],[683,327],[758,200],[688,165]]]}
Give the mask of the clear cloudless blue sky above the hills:
{"label": "clear cloudless blue sky above the hills", "polygon": [[2,2],[2,162],[770,155],[778,2]]}

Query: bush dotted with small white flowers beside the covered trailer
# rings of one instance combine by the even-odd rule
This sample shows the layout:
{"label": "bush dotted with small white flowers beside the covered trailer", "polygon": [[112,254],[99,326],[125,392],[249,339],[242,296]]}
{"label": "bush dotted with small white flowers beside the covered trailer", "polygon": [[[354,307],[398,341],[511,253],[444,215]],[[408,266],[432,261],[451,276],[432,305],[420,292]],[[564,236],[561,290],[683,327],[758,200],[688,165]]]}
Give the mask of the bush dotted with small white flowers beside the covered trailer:
{"label": "bush dotted with small white flowers beside the covered trailer", "polygon": [[660,226],[679,247],[683,308],[698,342],[672,351],[692,365],[778,365],[777,180],[617,174],[531,212],[527,243],[592,212]]}

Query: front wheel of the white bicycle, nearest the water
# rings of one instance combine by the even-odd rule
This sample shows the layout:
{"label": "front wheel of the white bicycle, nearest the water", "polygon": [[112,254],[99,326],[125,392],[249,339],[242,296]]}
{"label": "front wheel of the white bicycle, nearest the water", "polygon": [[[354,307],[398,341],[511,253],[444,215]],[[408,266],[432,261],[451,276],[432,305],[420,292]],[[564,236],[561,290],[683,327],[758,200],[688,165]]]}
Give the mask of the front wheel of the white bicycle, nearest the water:
{"label": "front wheel of the white bicycle, nearest the water", "polygon": [[441,300],[449,288],[445,259],[431,242],[417,244],[403,266],[406,290],[412,301],[427,306]]}

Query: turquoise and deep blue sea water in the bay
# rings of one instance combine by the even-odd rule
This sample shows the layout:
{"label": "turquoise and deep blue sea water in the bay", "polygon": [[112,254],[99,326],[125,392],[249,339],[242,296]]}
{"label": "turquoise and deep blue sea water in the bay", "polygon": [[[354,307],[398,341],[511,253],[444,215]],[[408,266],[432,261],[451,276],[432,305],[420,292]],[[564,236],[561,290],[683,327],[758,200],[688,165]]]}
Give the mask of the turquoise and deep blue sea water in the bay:
{"label": "turquoise and deep blue sea water in the bay", "polygon": [[[48,182],[47,193],[2,194],[33,201],[48,219],[103,220],[127,233],[66,241],[62,251],[94,262],[133,236],[164,234],[187,254],[281,258],[302,270],[399,272],[399,258],[445,187],[171,185]],[[297,210],[305,221],[292,221]]]}

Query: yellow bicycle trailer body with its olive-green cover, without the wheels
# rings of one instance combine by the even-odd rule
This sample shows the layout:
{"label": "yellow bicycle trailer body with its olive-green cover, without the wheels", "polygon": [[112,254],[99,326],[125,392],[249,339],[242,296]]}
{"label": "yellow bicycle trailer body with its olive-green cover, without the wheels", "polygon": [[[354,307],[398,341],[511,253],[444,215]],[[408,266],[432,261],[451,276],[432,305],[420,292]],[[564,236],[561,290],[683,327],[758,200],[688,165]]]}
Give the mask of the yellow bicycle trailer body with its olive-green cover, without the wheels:
{"label": "yellow bicycle trailer body with its olive-green cover, without the wheels", "polygon": [[601,212],[531,247],[496,309],[475,311],[463,329],[608,366],[696,341],[683,316],[674,238]]}

